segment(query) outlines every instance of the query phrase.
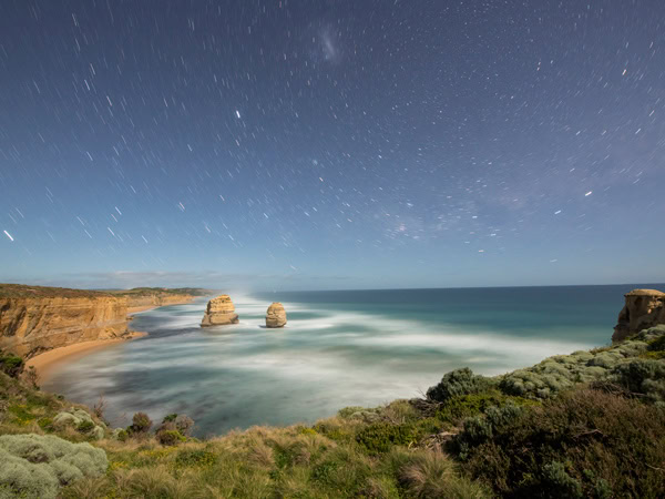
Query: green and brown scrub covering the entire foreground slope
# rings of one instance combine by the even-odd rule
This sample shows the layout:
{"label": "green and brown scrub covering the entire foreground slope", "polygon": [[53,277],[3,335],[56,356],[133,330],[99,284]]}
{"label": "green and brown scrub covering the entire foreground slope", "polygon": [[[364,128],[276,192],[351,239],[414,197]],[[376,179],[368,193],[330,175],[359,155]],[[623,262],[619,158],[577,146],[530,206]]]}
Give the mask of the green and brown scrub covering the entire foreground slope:
{"label": "green and brown scrub covering the entire foreground slope", "polygon": [[[177,414],[153,425],[137,413],[112,430],[102,404],[90,411],[0,374],[0,439],[40,441],[20,447],[34,455],[0,445],[0,497],[662,497],[664,338],[656,327],[493,378],[457,369],[422,399],[206,440]],[[93,468],[30,460],[61,439],[94,450]],[[31,468],[42,465],[51,471]]]}

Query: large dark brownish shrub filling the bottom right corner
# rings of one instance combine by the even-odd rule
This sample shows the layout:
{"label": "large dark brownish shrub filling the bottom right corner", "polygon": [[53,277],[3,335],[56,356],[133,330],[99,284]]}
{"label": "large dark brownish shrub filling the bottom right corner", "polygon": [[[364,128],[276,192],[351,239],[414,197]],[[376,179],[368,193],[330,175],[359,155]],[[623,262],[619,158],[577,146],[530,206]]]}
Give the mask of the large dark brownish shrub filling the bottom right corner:
{"label": "large dark brownish shrub filling the bottom right corner", "polygon": [[466,425],[461,438],[463,469],[498,496],[655,498],[665,490],[665,411],[635,399],[576,389],[507,424]]}

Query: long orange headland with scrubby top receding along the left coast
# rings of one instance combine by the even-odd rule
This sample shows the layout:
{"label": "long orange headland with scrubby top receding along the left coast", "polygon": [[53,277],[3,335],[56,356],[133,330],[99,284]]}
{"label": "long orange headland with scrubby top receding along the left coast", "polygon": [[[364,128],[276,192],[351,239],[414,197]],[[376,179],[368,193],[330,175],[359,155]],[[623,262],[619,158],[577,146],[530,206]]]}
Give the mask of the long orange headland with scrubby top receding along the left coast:
{"label": "long orange headland with scrubby top receding along the left coast", "polygon": [[193,298],[180,289],[93,292],[0,284],[0,349],[30,358],[66,345],[123,337],[129,335],[129,310]]}

